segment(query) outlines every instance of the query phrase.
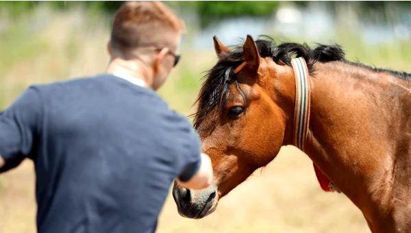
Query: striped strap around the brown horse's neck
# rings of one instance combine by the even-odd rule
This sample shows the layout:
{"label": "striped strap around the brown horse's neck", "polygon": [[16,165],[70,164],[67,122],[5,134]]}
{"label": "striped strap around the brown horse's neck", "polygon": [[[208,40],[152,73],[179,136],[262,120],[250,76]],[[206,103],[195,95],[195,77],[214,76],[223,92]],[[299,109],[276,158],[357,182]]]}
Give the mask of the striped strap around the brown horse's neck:
{"label": "striped strap around the brown horse's neck", "polygon": [[310,76],[303,57],[291,59],[295,74],[294,145],[304,151],[310,122]]}

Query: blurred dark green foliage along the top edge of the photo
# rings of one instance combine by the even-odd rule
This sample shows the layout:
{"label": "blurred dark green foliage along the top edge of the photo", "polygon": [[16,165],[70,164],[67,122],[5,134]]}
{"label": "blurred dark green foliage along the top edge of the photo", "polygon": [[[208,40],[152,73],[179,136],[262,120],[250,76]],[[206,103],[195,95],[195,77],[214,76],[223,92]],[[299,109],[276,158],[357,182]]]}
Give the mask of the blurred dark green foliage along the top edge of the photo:
{"label": "blurred dark green foliage along the top edge of the photo", "polygon": [[[14,16],[21,16],[28,10],[34,10],[40,4],[47,4],[55,10],[69,10],[73,7],[82,6],[90,12],[114,13],[123,1],[0,1],[0,10],[12,13]],[[236,17],[257,17],[264,18],[271,16],[278,8],[278,1],[164,1],[177,12],[192,10],[199,16],[201,28],[208,27],[213,23],[225,18]],[[306,8],[309,4],[303,1],[293,1],[290,4]],[[329,6],[329,9],[336,10],[341,5],[355,4],[358,12],[362,15],[372,16],[375,11],[385,12],[386,8],[411,9],[411,1],[359,1],[356,3],[347,2],[323,2],[323,5]],[[1,12],[1,11],[0,11]]]}

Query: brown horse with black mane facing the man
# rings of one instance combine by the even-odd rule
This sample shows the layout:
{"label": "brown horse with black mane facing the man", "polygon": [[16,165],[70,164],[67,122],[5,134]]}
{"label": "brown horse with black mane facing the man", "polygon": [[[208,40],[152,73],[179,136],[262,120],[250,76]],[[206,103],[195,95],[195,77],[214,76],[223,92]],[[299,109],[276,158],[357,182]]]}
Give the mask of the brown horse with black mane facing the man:
{"label": "brown horse with black mane facing the man", "polygon": [[292,56],[310,73],[310,123],[305,152],[362,210],[373,232],[411,232],[411,74],[344,59],[340,46],[245,44],[219,57],[203,83],[195,128],[210,155],[214,185],[175,186],[179,213],[201,218],[253,171],[293,144]]}

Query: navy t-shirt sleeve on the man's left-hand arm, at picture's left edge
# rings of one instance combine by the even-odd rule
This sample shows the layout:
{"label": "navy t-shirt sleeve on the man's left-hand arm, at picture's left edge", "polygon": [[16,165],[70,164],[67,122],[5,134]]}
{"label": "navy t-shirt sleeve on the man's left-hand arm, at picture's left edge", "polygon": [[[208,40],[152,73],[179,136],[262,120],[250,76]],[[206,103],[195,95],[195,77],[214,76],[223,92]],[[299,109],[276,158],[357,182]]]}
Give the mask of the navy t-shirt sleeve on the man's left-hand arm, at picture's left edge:
{"label": "navy t-shirt sleeve on the man's left-hand arm, at picture's left edge", "polygon": [[0,155],[5,165],[0,173],[19,165],[32,151],[42,106],[35,87],[29,87],[0,113]]}

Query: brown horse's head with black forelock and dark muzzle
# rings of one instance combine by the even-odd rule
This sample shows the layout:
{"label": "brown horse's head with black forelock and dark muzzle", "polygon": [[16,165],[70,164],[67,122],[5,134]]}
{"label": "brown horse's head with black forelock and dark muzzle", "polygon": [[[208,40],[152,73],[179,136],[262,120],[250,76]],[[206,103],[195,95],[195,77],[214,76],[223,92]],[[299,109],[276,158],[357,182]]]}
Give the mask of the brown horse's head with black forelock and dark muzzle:
{"label": "brown horse's head with black forelock and dark muzzle", "polygon": [[273,57],[272,42],[247,36],[242,47],[230,51],[214,37],[214,48],[219,61],[203,83],[195,114],[214,185],[201,191],[173,189],[179,213],[190,218],[212,213],[219,198],[273,160],[287,143],[291,131],[286,128],[292,127],[294,76],[287,61]]}

